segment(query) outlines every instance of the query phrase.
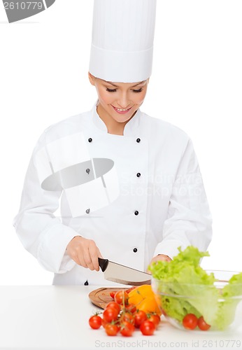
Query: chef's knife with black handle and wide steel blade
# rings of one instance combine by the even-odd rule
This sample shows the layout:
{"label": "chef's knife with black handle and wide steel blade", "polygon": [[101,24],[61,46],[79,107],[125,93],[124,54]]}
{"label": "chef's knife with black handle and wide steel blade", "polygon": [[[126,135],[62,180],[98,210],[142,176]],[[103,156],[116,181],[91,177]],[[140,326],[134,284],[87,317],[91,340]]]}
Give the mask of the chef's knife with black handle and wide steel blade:
{"label": "chef's knife with black handle and wide steel blade", "polygon": [[116,283],[128,284],[130,286],[141,286],[141,284],[150,284],[151,275],[138,269],[131,269],[124,265],[108,259],[99,258],[99,266],[104,272],[104,278]]}

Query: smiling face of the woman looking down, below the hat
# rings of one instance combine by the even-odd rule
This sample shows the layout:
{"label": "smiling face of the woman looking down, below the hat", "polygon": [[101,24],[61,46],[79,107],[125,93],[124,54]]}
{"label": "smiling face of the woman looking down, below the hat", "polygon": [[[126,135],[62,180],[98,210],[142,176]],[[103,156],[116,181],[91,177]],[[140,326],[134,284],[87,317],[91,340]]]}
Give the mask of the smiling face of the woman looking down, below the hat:
{"label": "smiling face of the woman looking down, below the hat", "polygon": [[98,113],[105,119],[127,122],[143,104],[147,92],[148,79],[138,83],[113,83],[92,76],[89,80],[97,89],[99,97]]}

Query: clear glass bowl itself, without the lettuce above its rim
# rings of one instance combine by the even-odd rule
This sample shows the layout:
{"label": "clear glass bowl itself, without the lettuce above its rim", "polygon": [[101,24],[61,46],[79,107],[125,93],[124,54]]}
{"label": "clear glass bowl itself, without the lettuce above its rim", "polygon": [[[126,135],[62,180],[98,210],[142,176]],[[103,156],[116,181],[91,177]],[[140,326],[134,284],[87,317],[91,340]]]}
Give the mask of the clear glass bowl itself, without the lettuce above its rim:
{"label": "clear glass bowl itself, without the lettuce above its rim", "polygon": [[[207,331],[221,331],[237,328],[242,325],[242,284],[229,288],[234,296],[222,295],[229,279],[238,272],[206,270],[213,273],[215,283],[212,286],[192,283],[165,283],[152,277],[152,290],[157,304],[166,319],[181,330],[186,314],[195,314],[197,318],[204,316],[204,321],[211,325]],[[200,330],[197,326],[195,330]],[[200,330],[204,331],[204,330]]]}

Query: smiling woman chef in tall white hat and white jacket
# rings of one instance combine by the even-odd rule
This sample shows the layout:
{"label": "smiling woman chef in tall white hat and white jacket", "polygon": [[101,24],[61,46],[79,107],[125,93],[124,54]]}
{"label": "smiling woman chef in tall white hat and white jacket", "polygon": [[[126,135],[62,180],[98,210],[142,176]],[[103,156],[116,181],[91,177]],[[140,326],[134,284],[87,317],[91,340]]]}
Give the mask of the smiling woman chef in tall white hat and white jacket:
{"label": "smiling woman chef in tall white hat and white jacket", "polygon": [[15,228],[55,273],[54,284],[113,284],[98,257],[145,271],[152,261],[173,258],[179,246],[205,251],[211,241],[192,141],[140,110],[155,6],[156,0],[94,0],[89,79],[97,103],[49,127],[34,149]]}

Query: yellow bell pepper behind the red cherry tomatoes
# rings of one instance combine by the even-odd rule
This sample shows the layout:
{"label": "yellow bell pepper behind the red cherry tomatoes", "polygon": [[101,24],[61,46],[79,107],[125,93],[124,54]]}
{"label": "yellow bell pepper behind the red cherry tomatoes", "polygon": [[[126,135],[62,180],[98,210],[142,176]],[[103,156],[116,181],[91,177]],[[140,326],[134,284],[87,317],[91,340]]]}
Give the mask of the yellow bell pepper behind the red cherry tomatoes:
{"label": "yellow bell pepper behind the red cherry tomatoes", "polygon": [[162,314],[155,300],[155,294],[148,284],[138,286],[129,292],[129,304],[135,304],[136,309],[146,313],[155,312],[159,316]]}

